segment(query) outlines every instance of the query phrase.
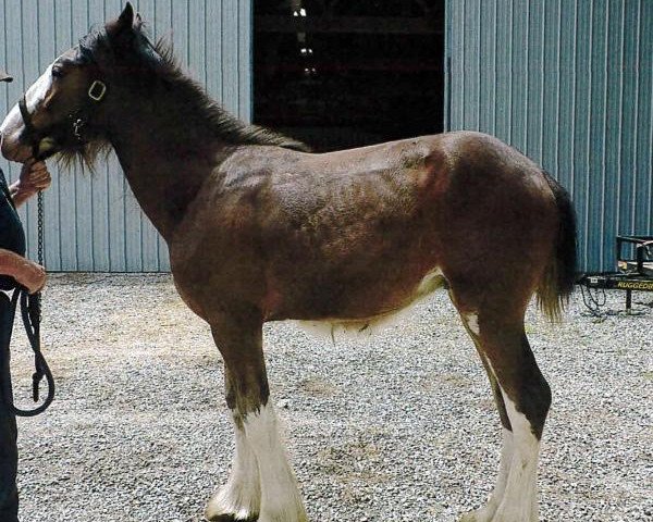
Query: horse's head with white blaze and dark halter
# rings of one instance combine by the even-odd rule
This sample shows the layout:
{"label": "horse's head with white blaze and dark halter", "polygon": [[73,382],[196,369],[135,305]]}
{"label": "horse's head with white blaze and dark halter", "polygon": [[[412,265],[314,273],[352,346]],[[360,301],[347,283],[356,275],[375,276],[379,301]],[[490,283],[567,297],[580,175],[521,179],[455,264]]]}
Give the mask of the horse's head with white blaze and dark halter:
{"label": "horse's head with white blaze and dark halter", "polygon": [[106,145],[109,105],[122,97],[119,75],[134,70],[135,47],[149,45],[140,26],[127,2],[116,20],[91,30],[54,60],[4,119],[2,154],[24,162],[61,153],[90,163]]}

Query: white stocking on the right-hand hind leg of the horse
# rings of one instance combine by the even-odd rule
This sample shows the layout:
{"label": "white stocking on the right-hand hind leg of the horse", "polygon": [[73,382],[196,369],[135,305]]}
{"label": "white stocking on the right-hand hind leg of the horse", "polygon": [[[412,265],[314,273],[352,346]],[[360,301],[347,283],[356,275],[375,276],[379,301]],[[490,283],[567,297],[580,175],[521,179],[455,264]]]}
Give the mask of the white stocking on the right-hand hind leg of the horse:
{"label": "white stocking on the right-hand hind leg of the horse", "polygon": [[540,440],[531,423],[502,390],[513,427],[513,459],[501,505],[493,522],[538,522],[538,458]]}

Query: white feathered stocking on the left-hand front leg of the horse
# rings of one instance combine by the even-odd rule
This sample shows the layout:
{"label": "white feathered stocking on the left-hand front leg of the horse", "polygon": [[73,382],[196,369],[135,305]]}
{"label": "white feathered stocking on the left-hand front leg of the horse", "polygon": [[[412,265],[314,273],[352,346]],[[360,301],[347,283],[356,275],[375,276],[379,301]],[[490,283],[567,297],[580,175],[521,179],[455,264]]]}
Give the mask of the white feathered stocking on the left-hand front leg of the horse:
{"label": "white feathered stocking on the left-hand front leg of the horse", "polygon": [[231,475],[226,484],[209,500],[206,518],[232,514],[236,520],[258,517],[261,505],[261,486],[256,456],[245,432],[236,426],[236,450]]}

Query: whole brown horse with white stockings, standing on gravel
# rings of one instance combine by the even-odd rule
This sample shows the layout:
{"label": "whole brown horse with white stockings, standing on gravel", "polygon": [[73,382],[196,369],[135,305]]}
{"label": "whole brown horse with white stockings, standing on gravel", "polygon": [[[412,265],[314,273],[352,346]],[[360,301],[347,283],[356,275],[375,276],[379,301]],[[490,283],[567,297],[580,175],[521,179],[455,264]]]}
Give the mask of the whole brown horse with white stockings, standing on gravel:
{"label": "whole brown horse with white stockings, standing on gravel", "polygon": [[[22,107],[21,107],[22,105]],[[523,315],[557,316],[575,276],[563,188],[518,151],[459,132],[313,154],[226,114],[152,46],[130,4],[59,57],[2,124],[2,153],[93,161],[115,149],[170,247],[174,282],[225,363],[236,451],[209,520],[306,521],[278,435],[266,321],[362,328],[448,288],[492,384],[500,475],[464,520],[538,520],[551,391]]]}

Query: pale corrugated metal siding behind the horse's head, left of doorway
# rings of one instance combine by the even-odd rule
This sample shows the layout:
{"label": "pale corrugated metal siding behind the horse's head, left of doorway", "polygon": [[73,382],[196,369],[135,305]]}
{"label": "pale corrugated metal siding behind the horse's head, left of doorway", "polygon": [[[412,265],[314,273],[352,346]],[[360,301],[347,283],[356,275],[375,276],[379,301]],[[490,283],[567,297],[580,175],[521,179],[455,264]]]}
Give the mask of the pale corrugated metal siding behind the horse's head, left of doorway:
{"label": "pale corrugated metal siding behind the horse's head, left of doorway", "polygon": [[[177,57],[238,117],[251,108],[250,0],[132,0],[155,38],[171,36]],[[0,87],[4,113],[61,52],[91,25],[113,18],[123,0],[0,0],[0,63],[14,82]],[[1,160],[15,179],[19,169]],[[46,265],[52,271],[167,271],[168,250],[140,212],[118,160],[94,176],[58,172],[45,194]],[[36,201],[21,210],[36,258]]]}

